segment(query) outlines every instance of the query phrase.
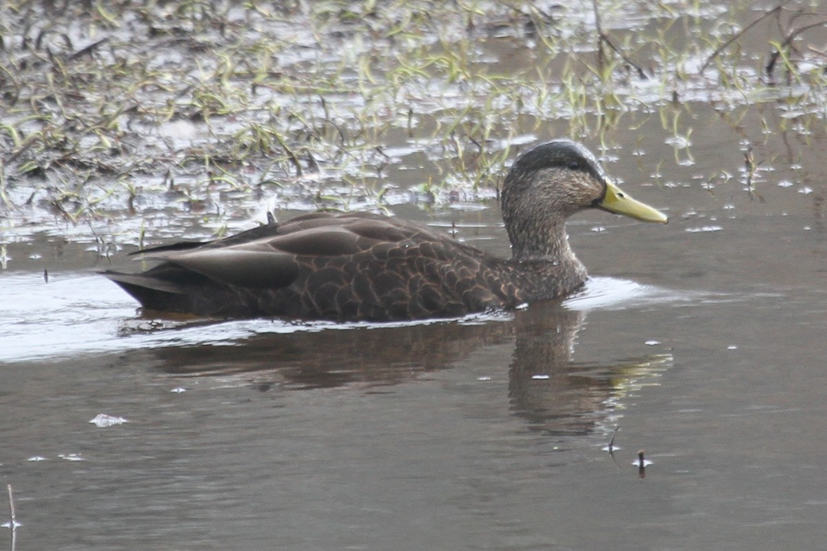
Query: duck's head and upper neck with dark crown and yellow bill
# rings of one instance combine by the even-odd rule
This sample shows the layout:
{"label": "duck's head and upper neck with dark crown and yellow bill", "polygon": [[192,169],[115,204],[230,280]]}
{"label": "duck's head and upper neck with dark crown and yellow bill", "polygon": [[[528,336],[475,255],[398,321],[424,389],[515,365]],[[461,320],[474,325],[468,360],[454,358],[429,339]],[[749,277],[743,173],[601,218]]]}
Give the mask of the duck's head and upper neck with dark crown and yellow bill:
{"label": "duck's head and upper neck with dark crown and yellow bill", "polygon": [[500,200],[518,257],[559,252],[562,244],[555,241],[565,239],[566,218],[587,208],[646,222],[668,221],[612,183],[595,155],[571,140],[547,141],[520,154],[505,177]]}

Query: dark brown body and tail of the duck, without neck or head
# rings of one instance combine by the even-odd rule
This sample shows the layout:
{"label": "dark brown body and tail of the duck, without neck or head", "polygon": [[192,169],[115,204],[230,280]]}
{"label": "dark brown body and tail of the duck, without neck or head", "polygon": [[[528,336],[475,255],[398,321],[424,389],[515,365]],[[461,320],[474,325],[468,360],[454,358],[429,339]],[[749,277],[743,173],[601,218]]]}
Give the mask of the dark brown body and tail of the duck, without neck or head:
{"label": "dark brown body and tail of the duck, without neck or head", "polygon": [[522,302],[509,264],[387,216],[317,213],[208,243],[144,251],[108,272],[147,310],[201,316],[409,320]]}

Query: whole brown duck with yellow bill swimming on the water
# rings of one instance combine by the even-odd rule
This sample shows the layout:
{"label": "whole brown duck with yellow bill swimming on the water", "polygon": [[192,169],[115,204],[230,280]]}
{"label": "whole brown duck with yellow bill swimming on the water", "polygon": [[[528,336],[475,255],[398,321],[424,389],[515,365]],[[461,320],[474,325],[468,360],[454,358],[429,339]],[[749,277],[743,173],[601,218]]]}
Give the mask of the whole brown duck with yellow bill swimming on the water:
{"label": "whole brown duck with yellow bill swimming on the water", "polygon": [[524,150],[500,207],[511,244],[503,259],[431,227],[369,212],[316,212],[218,240],[136,251],[158,264],[108,270],[148,312],[209,318],[409,321],[509,310],[576,291],[587,278],[566,220],[600,209],[667,223],[612,182],[579,142]]}

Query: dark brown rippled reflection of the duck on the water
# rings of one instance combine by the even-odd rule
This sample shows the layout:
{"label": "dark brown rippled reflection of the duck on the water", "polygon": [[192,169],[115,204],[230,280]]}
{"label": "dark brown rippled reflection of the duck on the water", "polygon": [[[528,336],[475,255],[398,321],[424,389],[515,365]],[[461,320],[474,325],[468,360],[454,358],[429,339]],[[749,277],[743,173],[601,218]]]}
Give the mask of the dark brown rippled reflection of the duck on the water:
{"label": "dark brown rippled reflection of the duck on the water", "polygon": [[[560,302],[541,302],[500,319],[434,321],[402,326],[301,326],[230,346],[155,349],[160,368],[179,376],[236,376],[262,391],[380,387],[454,368],[471,353],[491,360],[490,373],[509,373],[511,411],[533,430],[588,434],[606,420],[630,389],[671,364],[669,354],[613,363],[577,363],[574,344],[586,314]],[[189,325],[188,325],[189,326]],[[507,354],[485,347],[513,346]]]}

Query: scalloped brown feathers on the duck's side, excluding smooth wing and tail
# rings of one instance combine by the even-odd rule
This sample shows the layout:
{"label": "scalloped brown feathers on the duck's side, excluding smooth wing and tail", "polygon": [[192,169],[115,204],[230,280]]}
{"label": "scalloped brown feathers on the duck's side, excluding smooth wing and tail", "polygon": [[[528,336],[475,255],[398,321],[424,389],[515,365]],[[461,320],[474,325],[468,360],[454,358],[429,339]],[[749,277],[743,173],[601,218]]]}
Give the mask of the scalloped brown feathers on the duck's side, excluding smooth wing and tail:
{"label": "scalloped brown feathers on the duck's side, excluding smooth wing and tail", "polygon": [[[384,221],[384,219],[380,219]],[[293,283],[268,292],[233,289],[250,313],[334,320],[386,321],[462,316],[469,311],[514,306],[509,271],[447,236],[397,235],[351,255],[296,255]]]}

